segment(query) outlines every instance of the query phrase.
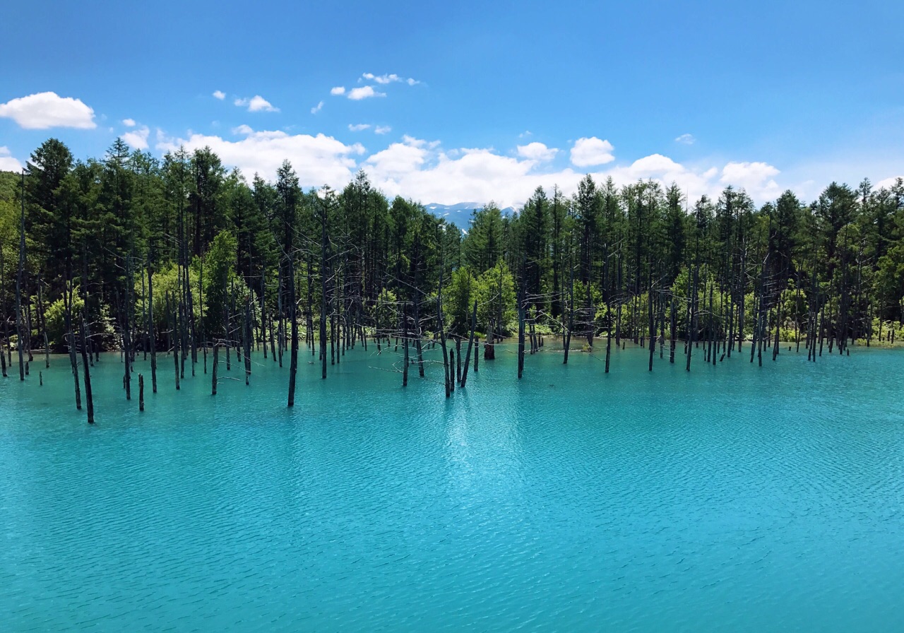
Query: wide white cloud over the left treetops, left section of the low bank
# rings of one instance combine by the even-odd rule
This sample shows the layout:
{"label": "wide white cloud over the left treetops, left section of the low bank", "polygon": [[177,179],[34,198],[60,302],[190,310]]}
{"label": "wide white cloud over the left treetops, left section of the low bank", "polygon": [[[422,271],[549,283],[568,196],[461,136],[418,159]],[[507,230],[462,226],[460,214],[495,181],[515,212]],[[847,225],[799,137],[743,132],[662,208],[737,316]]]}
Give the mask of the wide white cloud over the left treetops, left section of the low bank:
{"label": "wide white cloud over the left treetops, left section of the low bank", "polygon": [[364,153],[361,144],[345,145],[334,137],[318,134],[288,135],[286,132],[251,132],[237,141],[202,134],[188,138],[171,138],[158,130],[157,149],[174,151],[185,146],[192,151],[210,146],[225,165],[239,167],[246,175],[259,173],[264,178],[276,177],[283,160],[292,163],[300,184],[315,187],[322,184],[339,189],[347,184],[357,169],[354,156]]}

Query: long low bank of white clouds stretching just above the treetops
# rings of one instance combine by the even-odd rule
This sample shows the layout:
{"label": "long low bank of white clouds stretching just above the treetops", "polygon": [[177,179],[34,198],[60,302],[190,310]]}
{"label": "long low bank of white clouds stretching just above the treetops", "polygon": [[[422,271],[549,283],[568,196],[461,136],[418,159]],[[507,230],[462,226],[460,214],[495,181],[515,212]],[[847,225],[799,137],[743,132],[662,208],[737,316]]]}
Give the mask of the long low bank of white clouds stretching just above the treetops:
{"label": "long low bank of white clouds stretching just above the treetops", "polygon": [[[361,123],[348,129],[378,134],[383,128]],[[306,187],[329,184],[341,189],[359,168],[364,168],[372,183],[388,196],[400,194],[423,203],[495,200],[503,206],[519,206],[536,187],[549,192],[554,184],[563,194],[571,195],[585,175],[578,162],[599,165],[590,170],[598,184],[609,176],[618,186],[638,180],[651,180],[664,187],[676,183],[691,204],[702,194],[717,198],[728,184],[746,189],[757,203],[775,200],[780,194],[779,171],[767,163],[684,165],[669,156],[652,154],[617,164],[611,144],[599,139],[585,139],[591,141],[590,149],[595,154],[576,143],[578,160],[574,161],[572,147],[573,165],[552,170],[547,161],[562,150],[536,142],[516,146],[514,152],[500,153],[488,147],[445,148],[437,140],[406,135],[400,142],[368,154],[361,144],[347,144],[323,134],[290,135],[284,131],[254,131],[249,126],[232,131],[238,136],[229,140],[191,132],[187,138],[174,138],[158,131],[156,146],[163,151],[180,145],[189,150],[210,146],[225,165],[238,166],[246,175],[258,172],[268,179],[274,178],[279,165],[288,159]],[[592,156],[582,156],[582,151]],[[603,159],[609,164],[601,165]]]}

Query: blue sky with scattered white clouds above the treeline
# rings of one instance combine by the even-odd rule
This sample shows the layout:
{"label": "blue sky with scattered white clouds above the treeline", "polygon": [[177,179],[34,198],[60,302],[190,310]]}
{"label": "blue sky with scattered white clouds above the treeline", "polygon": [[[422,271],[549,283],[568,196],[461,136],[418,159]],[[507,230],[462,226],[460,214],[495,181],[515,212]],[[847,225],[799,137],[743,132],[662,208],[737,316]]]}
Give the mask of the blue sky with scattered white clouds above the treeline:
{"label": "blue sky with scattered white clouds above the treeline", "polygon": [[675,181],[692,198],[735,184],[758,202],[904,175],[901,3],[5,13],[0,168],[47,137],[84,158],[123,136],[157,156],[210,145],[249,177],[289,158],[307,186],[363,167],[424,203],[517,204],[539,184],[570,193],[585,173]]}

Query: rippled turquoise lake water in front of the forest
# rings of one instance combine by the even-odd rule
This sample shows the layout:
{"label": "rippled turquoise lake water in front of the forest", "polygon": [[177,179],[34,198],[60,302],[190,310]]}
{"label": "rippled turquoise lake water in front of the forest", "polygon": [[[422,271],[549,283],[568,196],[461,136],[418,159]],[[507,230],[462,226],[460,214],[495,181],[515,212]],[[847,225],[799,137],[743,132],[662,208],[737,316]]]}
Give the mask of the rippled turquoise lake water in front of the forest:
{"label": "rippled turquoise lake water in front of the forest", "polygon": [[14,367],[0,629],[904,630],[904,352],[512,351],[448,400],[302,354],[294,410],[259,355],[215,397],[139,360],[144,413],[106,354],[94,427],[67,358]]}

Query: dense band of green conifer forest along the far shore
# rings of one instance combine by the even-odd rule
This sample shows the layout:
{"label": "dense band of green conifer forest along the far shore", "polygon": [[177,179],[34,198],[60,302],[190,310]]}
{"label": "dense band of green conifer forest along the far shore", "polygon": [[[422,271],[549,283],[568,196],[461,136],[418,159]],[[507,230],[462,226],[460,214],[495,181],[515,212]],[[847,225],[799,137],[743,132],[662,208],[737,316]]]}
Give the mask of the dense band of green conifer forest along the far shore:
{"label": "dense band of green conifer forest along the far shore", "polygon": [[588,175],[571,196],[538,187],[512,216],[488,203],[460,230],[363,172],[303,191],[288,162],[249,181],[208,148],[157,159],[117,140],[78,161],[52,138],[24,176],[0,173],[0,339],[73,363],[80,333],[94,351],[181,346],[192,367],[199,347],[246,337],[281,362],[299,338],[323,354],[327,338],[492,343],[525,328],[843,350],[893,336],[902,299],[900,179],[757,207],[730,186],[689,201],[676,184]]}

